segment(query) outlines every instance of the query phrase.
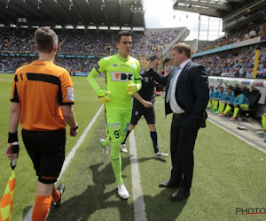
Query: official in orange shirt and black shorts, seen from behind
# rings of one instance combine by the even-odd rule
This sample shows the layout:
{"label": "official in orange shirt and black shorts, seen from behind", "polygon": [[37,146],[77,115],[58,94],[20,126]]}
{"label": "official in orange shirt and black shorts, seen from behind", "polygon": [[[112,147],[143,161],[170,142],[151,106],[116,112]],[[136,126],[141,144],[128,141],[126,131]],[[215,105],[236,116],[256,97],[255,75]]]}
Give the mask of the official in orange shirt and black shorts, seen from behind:
{"label": "official in orange shirt and black shorts, seen from behind", "polygon": [[51,198],[59,206],[65,185],[55,189],[65,160],[66,124],[71,136],[77,134],[74,117],[74,88],[69,72],[54,65],[58,36],[50,28],[35,31],[35,49],[39,59],[20,67],[14,75],[11,95],[8,146],[5,155],[12,154],[12,143],[18,141],[18,126],[38,176],[37,194],[32,220],[48,216]]}

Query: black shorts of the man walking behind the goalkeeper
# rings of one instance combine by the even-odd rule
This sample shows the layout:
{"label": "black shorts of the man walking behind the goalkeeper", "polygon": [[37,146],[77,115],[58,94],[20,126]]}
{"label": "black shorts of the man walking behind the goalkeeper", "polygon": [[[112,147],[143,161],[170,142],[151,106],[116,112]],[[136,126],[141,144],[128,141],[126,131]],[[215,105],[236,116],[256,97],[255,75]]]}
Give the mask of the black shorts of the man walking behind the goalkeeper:
{"label": "black shorts of the man walking behind the goalkeeper", "polygon": [[155,124],[154,108],[145,108],[144,106],[133,106],[130,124],[137,126],[138,120],[144,116],[148,125]]}

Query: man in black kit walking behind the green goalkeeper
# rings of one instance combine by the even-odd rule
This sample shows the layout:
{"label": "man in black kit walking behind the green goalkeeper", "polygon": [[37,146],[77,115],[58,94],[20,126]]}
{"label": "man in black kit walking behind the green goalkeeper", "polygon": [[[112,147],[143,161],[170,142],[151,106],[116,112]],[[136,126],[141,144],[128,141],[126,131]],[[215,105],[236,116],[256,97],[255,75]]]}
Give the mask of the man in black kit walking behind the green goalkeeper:
{"label": "man in black kit walking behind the green goalkeeper", "polygon": [[[150,65],[155,71],[158,71],[160,60],[156,56],[149,58]],[[125,140],[121,143],[121,151],[127,153],[126,140],[129,133],[137,126],[138,120],[144,116],[150,129],[150,135],[153,141],[153,150],[155,156],[168,156],[168,154],[158,149],[157,132],[154,112],[154,87],[155,81],[145,71],[140,72],[142,88],[134,95],[133,110],[131,121]]]}

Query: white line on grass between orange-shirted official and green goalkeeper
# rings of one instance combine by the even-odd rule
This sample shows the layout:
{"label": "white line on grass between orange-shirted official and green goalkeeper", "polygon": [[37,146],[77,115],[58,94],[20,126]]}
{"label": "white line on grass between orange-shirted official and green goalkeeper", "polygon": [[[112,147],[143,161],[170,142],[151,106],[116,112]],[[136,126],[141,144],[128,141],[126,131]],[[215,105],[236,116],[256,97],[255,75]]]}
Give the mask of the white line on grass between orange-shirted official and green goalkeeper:
{"label": "white line on grass between orange-shirted official and green goalkeeper", "polygon": [[[79,149],[79,147],[82,145],[82,142],[84,141],[85,137],[87,136],[87,134],[90,131],[91,126],[94,125],[96,119],[98,118],[98,115],[100,114],[100,112],[103,110],[104,105],[102,105],[98,112],[95,114],[95,116],[91,119],[90,124],[87,126],[87,128],[84,130],[84,132],[82,133],[82,135],[80,136],[79,140],[76,142],[76,144],[74,145],[74,148],[71,149],[71,151],[69,152],[69,154],[66,156],[66,160],[63,164],[62,170],[60,172],[59,175],[59,179],[61,177],[61,175],[63,174],[63,172],[66,170],[66,166],[70,163],[71,159],[74,156],[74,153],[77,149]],[[33,211],[33,207],[27,212],[27,215],[24,217],[23,221],[31,221],[31,217],[32,217],[32,211]]]}

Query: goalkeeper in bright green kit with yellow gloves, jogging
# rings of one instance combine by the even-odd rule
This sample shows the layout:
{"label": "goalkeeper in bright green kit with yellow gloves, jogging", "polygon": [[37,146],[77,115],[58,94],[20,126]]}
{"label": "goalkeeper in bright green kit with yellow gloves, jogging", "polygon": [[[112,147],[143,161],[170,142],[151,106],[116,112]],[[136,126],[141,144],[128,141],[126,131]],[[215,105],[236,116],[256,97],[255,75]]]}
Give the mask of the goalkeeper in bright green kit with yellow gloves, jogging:
{"label": "goalkeeper in bright green kit with yellow gloves, jogging", "polygon": [[[132,39],[128,31],[117,34],[118,53],[98,61],[88,76],[90,86],[105,104],[107,139],[100,140],[103,147],[111,146],[111,163],[115,175],[118,194],[129,198],[129,192],[121,178],[121,142],[124,141],[132,112],[132,95],[141,88],[140,65],[137,59],[129,57]],[[96,78],[104,72],[106,90],[98,86]]]}

